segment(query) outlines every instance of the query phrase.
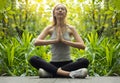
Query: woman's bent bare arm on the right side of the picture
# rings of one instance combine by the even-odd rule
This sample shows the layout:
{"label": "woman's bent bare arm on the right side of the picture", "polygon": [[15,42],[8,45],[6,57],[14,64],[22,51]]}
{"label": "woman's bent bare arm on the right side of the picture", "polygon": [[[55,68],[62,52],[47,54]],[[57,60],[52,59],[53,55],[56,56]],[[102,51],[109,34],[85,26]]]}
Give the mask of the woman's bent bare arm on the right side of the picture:
{"label": "woman's bent bare arm on the right side of the picture", "polygon": [[83,42],[82,38],[79,36],[76,29],[74,27],[70,27],[70,30],[72,31],[72,35],[75,39],[75,42],[65,40],[65,39],[63,39],[63,37],[62,37],[61,41],[69,46],[72,46],[72,47],[75,47],[78,49],[85,49],[84,42]]}

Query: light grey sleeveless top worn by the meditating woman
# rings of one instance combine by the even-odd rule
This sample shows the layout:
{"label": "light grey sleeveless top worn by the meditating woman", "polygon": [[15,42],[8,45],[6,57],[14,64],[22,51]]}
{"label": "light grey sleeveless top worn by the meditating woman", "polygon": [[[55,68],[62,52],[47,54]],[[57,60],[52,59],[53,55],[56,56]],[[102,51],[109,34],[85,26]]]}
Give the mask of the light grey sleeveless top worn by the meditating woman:
{"label": "light grey sleeveless top worn by the meditating woman", "polygon": [[[51,39],[56,39],[56,30],[53,31]],[[70,41],[70,35],[66,31],[63,33],[63,38]],[[52,62],[70,61],[70,47],[62,42],[51,45]]]}

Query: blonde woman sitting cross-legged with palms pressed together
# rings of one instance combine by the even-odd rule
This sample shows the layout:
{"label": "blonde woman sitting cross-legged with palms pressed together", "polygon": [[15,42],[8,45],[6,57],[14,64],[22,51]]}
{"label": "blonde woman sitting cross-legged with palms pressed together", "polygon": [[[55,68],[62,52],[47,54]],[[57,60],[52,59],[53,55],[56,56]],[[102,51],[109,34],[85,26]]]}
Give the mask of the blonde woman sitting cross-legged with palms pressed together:
{"label": "blonde woman sitting cross-legged with palms pressed together", "polygon": [[[40,57],[33,56],[30,63],[38,70],[44,69],[53,77],[85,78],[89,61],[80,58],[73,62],[70,58],[70,46],[84,50],[85,45],[76,29],[65,22],[66,15],[66,7],[63,4],[56,5],[53,9],[53,25],[46,27],[34,43],[35,46],[51,44],[51,62],[47,63]],[[51,39],[45,40],[48,35]],[[75,42],[71,41],[71,37],[74,37]]]}

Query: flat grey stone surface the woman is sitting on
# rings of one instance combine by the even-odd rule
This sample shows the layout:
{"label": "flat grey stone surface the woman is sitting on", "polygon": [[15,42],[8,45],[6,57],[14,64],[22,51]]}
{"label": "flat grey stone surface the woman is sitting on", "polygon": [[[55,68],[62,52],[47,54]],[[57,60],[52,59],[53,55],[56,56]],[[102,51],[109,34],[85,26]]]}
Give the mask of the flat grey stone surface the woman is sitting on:
{"label": "flat grey stone surface the woman is sitting on", "polygon": [[72,78],[39,78],[31,77],[0,77],[0,83],[120,83],[120,77],[87,77]]}

